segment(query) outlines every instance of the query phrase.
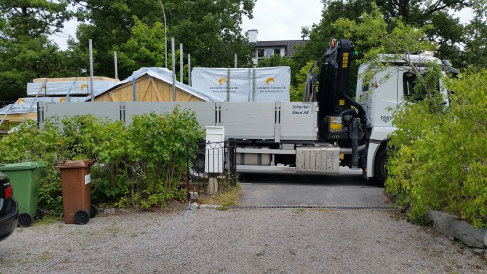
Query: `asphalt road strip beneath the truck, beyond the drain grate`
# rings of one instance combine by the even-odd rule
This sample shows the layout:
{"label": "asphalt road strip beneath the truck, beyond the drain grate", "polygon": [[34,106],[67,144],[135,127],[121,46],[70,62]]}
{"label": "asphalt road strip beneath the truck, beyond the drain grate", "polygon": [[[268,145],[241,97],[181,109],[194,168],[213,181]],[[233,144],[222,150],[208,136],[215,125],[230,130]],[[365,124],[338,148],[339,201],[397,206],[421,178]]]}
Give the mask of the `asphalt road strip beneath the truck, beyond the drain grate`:
{"label": "asphalt road strip beneath the truck, beyond the drain grate", "polygon": [[296,172],[241,173],[241,206],[353,206],[390,205],[384,188],[362,177],[361,170],[341,168],[339,175]]}

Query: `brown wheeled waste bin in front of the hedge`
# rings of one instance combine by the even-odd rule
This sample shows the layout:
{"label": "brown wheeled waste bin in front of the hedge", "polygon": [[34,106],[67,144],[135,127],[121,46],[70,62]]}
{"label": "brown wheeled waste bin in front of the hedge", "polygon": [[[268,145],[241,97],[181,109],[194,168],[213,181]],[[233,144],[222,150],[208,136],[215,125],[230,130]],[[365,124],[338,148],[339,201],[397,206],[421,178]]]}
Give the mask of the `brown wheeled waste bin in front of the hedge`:
{"label": "brown wheeled waste bin in front of the hedge", "polygon": [[61,170],[64,223],[84,225],[96,215],[96,207],[90,204],[90,166],[93,163],[94,160],[63,161],[56,166]]}

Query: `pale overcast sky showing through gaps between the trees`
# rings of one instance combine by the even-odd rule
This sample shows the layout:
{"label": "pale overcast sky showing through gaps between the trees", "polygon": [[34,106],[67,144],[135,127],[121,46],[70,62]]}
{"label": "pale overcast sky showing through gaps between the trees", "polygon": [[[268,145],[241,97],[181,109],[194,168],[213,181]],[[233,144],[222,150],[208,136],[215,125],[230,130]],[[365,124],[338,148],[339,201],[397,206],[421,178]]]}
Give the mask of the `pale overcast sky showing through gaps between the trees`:
{"label": "pale overcast sky showing through gaps between the trees", "polygon": [[[241,25],[243,33],[257,29],[257,40],[296,40],[301,39],[301,26],[318,24],[321,19],[323,3],[320,0],[257,0],[253,10],[254,19],[244,16]],[[462,23],[472,19],[472,11],[465,9],[457,14]],[[76,20],[65,24],[63,33],[51,35],[61,49],[66,49],[67,36],[75,36]]]}

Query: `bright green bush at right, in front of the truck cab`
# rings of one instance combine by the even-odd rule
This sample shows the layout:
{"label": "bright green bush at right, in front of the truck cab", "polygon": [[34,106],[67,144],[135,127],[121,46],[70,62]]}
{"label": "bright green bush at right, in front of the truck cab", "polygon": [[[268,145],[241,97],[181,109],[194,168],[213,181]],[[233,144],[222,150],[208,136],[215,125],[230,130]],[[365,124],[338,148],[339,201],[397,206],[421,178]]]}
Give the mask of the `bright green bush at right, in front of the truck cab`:
{"label": "bright green bush at right, in front of the truck cab", "polygon": [[487,71],[447,80],[449,107],[435,98],[404,104],[394,116],[386,189],[421,220],[428,209],[487,225]]}

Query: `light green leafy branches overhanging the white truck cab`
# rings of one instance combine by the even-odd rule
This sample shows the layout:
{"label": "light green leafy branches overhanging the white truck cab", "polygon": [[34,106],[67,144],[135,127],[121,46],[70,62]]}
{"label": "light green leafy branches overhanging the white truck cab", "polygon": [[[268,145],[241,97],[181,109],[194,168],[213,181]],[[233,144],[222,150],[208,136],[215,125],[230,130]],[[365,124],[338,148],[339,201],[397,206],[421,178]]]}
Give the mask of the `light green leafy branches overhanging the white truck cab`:
{"label": "light green leafy branches overhanging the white truck cab", "polygon": [[[342,33],[342,37],[355,37],[358,49],[367,49],[359,64],[369,64],[367,70],[359,75],[362,79],[372,79],[378,72],[394,65],[399,61],[409,67],[411,74],[415,75],[417,92],[426,92],[433,97],[436,90],[436,82],[442,77],[440,64],[431,61],[427,56],[421,57],[422,51],[433,51],[438,48],[437,43],[426,39],[426,32],[433,28],[432,25],[415,27],[404,23],[399,19],[391,19],[388,24],[385,16],[379,10],[376,3],[372,3],[371,13],[362,13],[361,22],[351,19],[338,19],[333,27]],[[417,60],[412,55],[420,56]],[[377,81],[385,81],[377,79]]]}

